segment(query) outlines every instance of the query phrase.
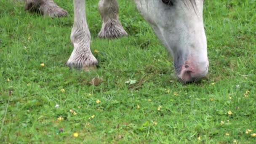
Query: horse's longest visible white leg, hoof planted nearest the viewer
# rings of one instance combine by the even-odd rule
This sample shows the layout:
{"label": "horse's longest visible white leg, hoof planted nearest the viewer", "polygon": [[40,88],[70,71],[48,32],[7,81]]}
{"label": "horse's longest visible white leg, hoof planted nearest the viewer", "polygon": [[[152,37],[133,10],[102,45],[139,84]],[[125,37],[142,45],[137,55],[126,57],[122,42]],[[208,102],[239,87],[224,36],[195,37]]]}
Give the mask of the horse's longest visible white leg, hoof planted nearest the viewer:
{"label": "horse's longest visible white leg, hoof planted nearest the viewer", "polygon": [[94,68],[98,61],[90,50],[91,34],[86,21],[85,0],[74,0],[74,24],[70,39],[74,49],[67,65],[85,70]]}

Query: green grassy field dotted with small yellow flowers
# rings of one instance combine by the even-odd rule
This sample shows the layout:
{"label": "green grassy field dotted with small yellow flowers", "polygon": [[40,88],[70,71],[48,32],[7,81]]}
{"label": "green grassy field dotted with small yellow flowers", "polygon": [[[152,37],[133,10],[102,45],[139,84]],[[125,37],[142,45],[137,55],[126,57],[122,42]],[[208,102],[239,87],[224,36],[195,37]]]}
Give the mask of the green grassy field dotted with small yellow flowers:
{"label": "green grassy field dotted with small yellow flowers", "polygon": [[71,0],[56,0],[69,12],[59,19],[0,0],[0,141],[256,143],[255,0],[205,0],[209,74],[186,85],[134,3],[118,2],[129,36],[102,40],[97,0],[87,0],[99,66],[83,72],[65,66]]}

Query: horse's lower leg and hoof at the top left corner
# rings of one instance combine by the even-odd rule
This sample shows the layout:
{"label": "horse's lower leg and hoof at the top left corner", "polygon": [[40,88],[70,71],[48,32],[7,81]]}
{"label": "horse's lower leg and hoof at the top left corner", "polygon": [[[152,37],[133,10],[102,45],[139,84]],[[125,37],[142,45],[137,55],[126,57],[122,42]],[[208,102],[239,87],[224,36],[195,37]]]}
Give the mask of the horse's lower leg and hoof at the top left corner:
{"label": "horse's lower leg and hoof at the top left corner", "polygon": [[40,11],[43,15],[53,17],[67,16],[67,11],[59,7],[53,0],[25,0],[26,11]]}

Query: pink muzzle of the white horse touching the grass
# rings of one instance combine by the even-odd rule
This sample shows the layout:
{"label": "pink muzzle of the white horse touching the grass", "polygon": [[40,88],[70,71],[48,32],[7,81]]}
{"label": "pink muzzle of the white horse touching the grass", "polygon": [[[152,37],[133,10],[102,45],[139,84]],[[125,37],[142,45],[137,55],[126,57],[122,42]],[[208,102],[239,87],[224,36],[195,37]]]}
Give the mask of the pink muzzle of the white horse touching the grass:
{"label": "pink muzzle of the white horse touching the grass", "polygon": [[179,78],[184,82],[197,81],[205,77],[208,73],[208,61],[203,63],[194,64],[186,61],[181,68]]}

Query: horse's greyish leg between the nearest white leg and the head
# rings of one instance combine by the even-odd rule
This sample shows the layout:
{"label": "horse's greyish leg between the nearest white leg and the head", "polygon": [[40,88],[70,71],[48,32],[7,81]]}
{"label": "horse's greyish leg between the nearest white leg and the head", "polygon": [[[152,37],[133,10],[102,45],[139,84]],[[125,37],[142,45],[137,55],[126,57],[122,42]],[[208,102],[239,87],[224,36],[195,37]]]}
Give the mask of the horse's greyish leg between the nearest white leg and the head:
{"label": "horse's greyish leg between the nearest white leg and the head", "polygon": [[117,0],[99,0],[98,10],[101,15],[102,27],[98,36],[101,38],[115,38],[127,36],[118,19]]}

